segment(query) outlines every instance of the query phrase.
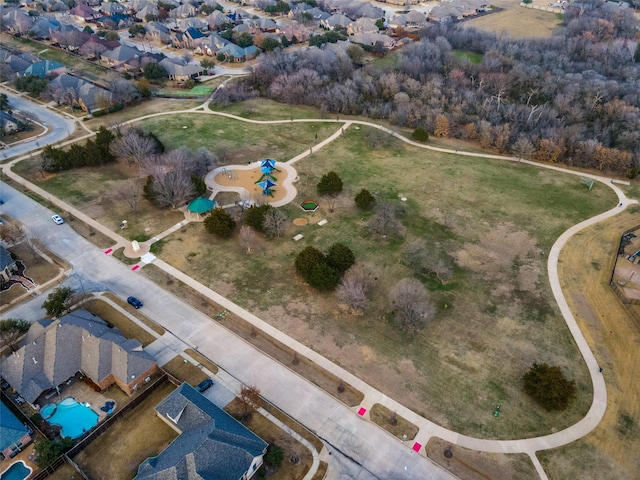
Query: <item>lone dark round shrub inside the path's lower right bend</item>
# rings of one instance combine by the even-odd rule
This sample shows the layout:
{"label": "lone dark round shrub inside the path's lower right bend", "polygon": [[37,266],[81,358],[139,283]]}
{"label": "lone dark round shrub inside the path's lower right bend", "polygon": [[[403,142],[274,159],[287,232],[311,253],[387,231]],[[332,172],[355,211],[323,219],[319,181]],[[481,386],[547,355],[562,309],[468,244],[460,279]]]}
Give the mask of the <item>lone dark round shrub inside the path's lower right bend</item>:
{"label": "lone dark round shrub inside the path's lower right bend", "polygon": [[567,379],[560,367],[534,363],[522,380],[524,391],[548,411],[565,410],[576,396],[576,382]]}

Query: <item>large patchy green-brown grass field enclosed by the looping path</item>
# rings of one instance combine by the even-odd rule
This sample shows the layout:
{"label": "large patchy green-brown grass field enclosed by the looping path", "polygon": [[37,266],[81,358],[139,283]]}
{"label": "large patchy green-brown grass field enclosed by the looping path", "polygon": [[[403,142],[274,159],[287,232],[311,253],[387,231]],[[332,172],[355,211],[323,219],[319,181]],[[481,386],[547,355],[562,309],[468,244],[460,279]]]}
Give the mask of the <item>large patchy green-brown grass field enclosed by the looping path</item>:
{"label": "large patchy green-brown grass field enclosed by the looping path", "polygon": [[[513,438],[577,421],[591,402],[591,386],[552,301],[545,252],[570,225],[612,206],[613,194],[602,186],[589,192],[578,178],[522,164],[427,152],[395,140],[370,148],[367,130],[349,129],[296,164],[299,196],[282,210],[290,219],[307,216],[297,205],[321,200],[315,185],[333,169],[346,186],[334,213],[320,201],[309,225],[291,226],[284,239],[250,256],[235,241],[211,241],[201,225],[189,225],[167,239],[162,258],[458,431]],[[408,198],[405,239],[369,233],[371,214],[355,210],[351,200],[363,187],[398,206],[399,195]],[[315,225],[322,218],[329,223]],[[294,244],[289,239],[296,233],[305,237]],[[425,279],[438,314],[407,341],[391,322],[384,292],[412,275],[402,249],[418,237],[443,245],[457,267],[447,285]],[[379,272],[375,300],[361,317],[336,308],[332,294],[316,293],[293,275],[296,252],[336,241]],[[533,361],[561,365],[577,381],[579,399],[569,412],[548,414],[522,394],[520,377]],[[498,419],[491,415],[495,404],[503,407]]]}

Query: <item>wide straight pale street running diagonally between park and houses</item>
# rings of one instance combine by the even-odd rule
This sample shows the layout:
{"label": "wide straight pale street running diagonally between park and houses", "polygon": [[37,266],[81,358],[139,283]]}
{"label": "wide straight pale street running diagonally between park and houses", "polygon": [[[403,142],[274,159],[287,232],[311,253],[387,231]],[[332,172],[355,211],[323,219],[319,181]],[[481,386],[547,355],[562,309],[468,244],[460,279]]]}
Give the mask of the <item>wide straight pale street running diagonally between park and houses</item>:
{"label": "wide straight pale street running diagonally between park and houses", "polygon": [[[328,478],[453,478],[209,317],[105,255],[68,224],[55,225],[51,220],[54,212],[5,184],[0,186],[5,199],[0,211],[23,222],[34,237],[72,265],[72,274],[63,285],[86,292],[111,291],[122,298],[129,295],[140,298],[146,315],[185,344],[197,346],[201,353],[242,383],[258,386],[265,398],[324,439],[331,452]],[[44,295],[36,297],[4,316],[37,320],[43,314],[40,309],[43,300]]]}

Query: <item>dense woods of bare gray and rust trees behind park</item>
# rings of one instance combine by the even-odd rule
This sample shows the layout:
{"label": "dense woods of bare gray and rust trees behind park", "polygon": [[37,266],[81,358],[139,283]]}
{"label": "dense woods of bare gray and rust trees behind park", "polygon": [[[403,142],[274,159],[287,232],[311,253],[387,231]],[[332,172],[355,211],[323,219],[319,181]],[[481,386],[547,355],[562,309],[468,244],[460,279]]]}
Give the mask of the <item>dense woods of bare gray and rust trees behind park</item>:
{"label": "dense woods of bare gray and rust trees behind park", "polygon": [[632,9],[585,5],[569,7],[550,38],[432,25],[384,64],[362,65],[354,47],[276,50],[216,101],[264,96],[633,178],[640,22]]}

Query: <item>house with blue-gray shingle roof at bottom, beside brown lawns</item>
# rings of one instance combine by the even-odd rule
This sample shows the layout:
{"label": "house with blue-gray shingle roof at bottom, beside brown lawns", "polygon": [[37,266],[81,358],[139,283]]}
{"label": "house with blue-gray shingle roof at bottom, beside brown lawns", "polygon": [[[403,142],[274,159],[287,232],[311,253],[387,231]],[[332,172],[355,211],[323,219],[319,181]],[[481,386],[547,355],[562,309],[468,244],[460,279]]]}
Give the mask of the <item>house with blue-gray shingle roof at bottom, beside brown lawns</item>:
{"label": "house with blue-gray shingle roof at bottom, beside brown lawns", "polygon": [[134,480],[249,479],[262,465],[267,442],[192,386],[183,383],[155,410],[180,435]]}

